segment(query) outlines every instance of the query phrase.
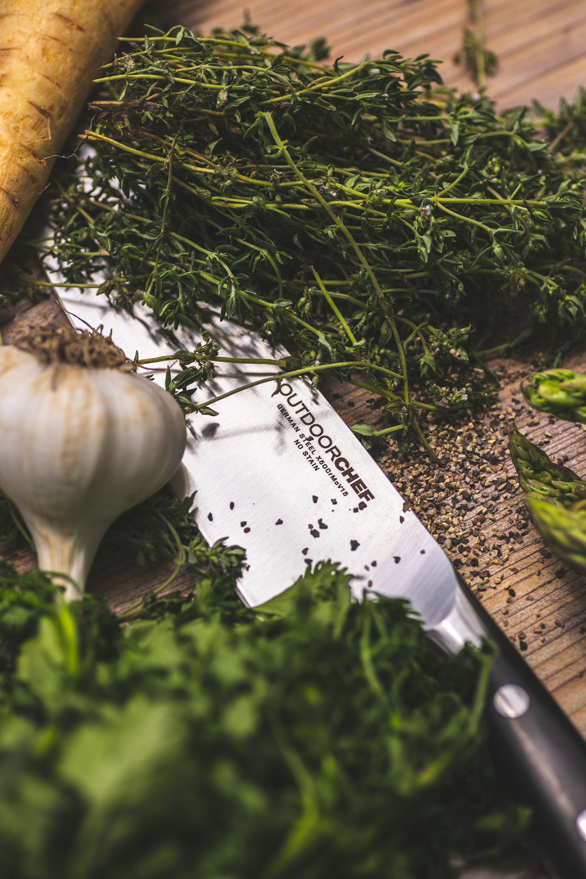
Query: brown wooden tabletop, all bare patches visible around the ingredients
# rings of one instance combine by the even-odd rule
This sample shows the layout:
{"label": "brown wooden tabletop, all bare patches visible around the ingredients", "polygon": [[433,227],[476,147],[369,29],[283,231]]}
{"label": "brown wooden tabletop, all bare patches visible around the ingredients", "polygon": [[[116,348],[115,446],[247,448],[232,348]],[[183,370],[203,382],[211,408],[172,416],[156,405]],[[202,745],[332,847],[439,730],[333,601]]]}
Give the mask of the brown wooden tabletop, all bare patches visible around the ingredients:
{"label": "brown wooden tabletop, all bare patches visible around the ingredients", "polygon": [[[216,26],[242,24],[244,5],[248,6],[252,21],[264,32],[291,45],[324,36],[332,47],[332,57],[344,54],[347,61],[359,61],[366,53],[380,54],[387,47],[410,56],[427,52],[444,62],[442,75],[447,84],[471,88],[467,76],[453,61],[462,27],[467,25],[465,0],[363,0],[360,4],[353,0],[298,0],[289,6],[269,0],[249,0],[246,4],[235,0],[177,0],[164,9],[170,24],[181,22],[199,33],[209,33]],[[586,82],[584,0],[525,0],[517,4],[485,0],[483,8],[487,45],[500,62],[497,75],[489,82],[489,93],[499,106],[529,103],[533,97],[555,106],[561,96],[572,98],[578,85]],[[0,270],[0,290],[10,287],[10,272],[10,264]],[[65,320],[67,317],[52,295],[37,304],[21,301],[0,311],[0,331],[4,344],[10,344],[29,323]],[[564,365],[586,372],[586,349],[572,352]],[[519,360],[498,360],[492,367],[502,375],[500,409],[493,413],[500,423],[494,432],[504,438],[499,441],[506,445],[510,425],[525,428],[533,441],[544,444],[553,460],[567,457],[568,466],[586,476],[586,432],[568,423],[550,425],[547,417],[516,402],[520,399],[520,378],[532,371],[532,365]],[[381,424],[380,416],[370,408],[367,392],[328,381],[324,393],[347,424],[363,420]],[[399,466],[399,452],[393,441],[381,449],[379,457],[386,472],[393,473]],[[404,464],[401,466],[405,469]],[[416,477],[416,461],[411,461],[406,469],[409,467]],[[510,461],[500,472],[513,475]],[[498,476],[497,467],[488,467],[482,479],[492,476]],[[481,538],[492,541],[496,534],[501,535],[501,555],[498,563],[488,569],[488,579],[479,581],[471,577],[474,569],[467,564],[472,562],[472,551],[468,560],[462,559],[461,572],[517,647],[519,643],[526,645],[523,654],[527,662],[586,737],[586,578],[568,570],[567,565],[548,553],[531,524],[520,528],[515,519],[519,504],[519,490],[500,497],[488,517],[474,527],[475,533],[481,535],[474,537],[478,546]],[[467,512],[459,527],[472,527],[474,517],[478,518],[476,511]],[[433,516],[427,524],[434,530],[432,523]],[[472,545],[469,548],[472,550]],[[449,554],[461,558],[455,545]],[[35,563],[28,548],[19,548],[4,557],[18,570],[30,570]],[[147,570],[128,556],[108,570],[91,574],[88,589],[102,595],[114,611],[119,611],[163,584],[171,570],[170,565]],[[190,576],[181,574],[170,588],[177,586],[189,589]],[[525,637],[519,639],[519,633]],[[464,876],[545,879],[546,871],[537,862],[525,861],[504,865],[500,872],[474,868],[463,879]]]}

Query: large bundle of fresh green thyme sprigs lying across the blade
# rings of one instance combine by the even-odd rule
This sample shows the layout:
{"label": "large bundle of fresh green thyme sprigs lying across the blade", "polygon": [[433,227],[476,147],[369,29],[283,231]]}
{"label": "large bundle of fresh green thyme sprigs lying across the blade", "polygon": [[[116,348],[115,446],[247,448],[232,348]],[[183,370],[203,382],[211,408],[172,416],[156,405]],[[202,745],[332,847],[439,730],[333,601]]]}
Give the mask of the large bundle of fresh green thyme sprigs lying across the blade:
{"label": "large bundle of fresh green thyme sprigs lying across the blade", "polygon": [[[248,322],[295,353],[279,374],[377,396],[403,448],[418,414],[488,403],[483,346],[582,335],[579,163],[525,108],[444,89],[425,56],[324,67],[253,28],[125,48],[98,78],[81,176],[76,158],[54,175],[69,284],[105,271],[100,293],[165,325]],[[533,323],[503,345],[520,291]],[[186,409],[219,353],[179,358]]]}

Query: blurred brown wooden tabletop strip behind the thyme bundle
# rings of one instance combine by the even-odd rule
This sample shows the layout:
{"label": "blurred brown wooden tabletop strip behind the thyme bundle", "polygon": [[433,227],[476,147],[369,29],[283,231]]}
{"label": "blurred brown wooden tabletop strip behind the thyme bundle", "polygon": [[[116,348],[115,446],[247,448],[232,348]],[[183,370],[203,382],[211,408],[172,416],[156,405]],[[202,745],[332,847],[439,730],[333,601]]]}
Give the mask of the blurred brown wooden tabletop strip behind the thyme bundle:
{"label": "blurred brown wooden tabletop strip behind the thyme bundle", "polygon": [[[427,53],[442,63],[445,83],[472,88],[454,63],[463,27],[470,26],[466,0],[177,0],[166,4],[170,24],[194,31],[242,25],[243,10],[277,40],[291,46],[325,37],[331,57],[360,61],[386,48],[406,56]],[[586,82],[586,3],[584,0],[483,0],[486,45],[499,69],[488,91],[501,108],[531,105],[532,98],[556,107],[572,99]]]}

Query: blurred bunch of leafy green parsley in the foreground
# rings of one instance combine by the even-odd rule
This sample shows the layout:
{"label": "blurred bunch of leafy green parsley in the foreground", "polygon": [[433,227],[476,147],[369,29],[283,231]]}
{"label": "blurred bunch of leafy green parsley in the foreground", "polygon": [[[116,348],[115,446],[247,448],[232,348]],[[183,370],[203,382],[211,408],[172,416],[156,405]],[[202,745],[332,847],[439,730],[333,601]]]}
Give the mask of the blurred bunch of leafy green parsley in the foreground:
{"label": "blurred bunch of leafy green parsley in the foreground", "polygon": [[0,563],[2,875],[447,879],[510,845],[491,657],[348,580],[317,565],[258,612],[208,583],[129,627]]}

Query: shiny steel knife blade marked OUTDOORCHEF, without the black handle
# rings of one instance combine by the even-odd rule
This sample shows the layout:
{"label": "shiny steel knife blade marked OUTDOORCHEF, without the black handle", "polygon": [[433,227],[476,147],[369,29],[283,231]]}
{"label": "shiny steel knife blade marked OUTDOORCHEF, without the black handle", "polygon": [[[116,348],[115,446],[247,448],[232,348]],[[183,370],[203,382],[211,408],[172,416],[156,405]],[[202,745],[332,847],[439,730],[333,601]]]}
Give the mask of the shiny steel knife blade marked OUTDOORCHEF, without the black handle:
{"label": "shiny steel knife blade marked OUTDOORCHEF, without the black handle", "polygon": [[[189,350],[200,340],[195,331],[163,331],[141,307],[134,317],[117,312],[89,292],[69,289],[61,302],[74,323],[112,331],[129,357],[135,350],[141,359]],[[287,356],[229,321],[216,320],[210,331],[223,356]],[[166,367],[148,368],[163,384]],[[226,394],[278,371],[226,367],[203,394]],[[225,537],[246,548],[243,601],[263,604],[307,564],[329,559],[355,575],[357,596],[408,599],[446,650],[481,642],[484,629],[445,553],[319,391],[301,379],[268,381],[214,408],[217,418],[187,418],[184,460],[171,484],[182,498],[196,492],[193,514],[207,541]]]}

